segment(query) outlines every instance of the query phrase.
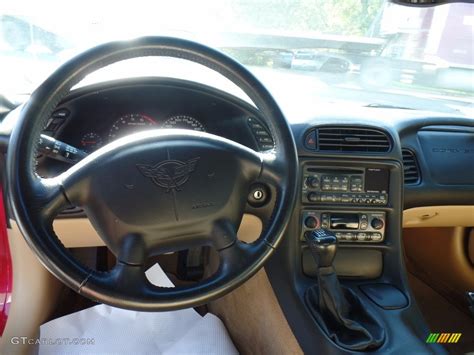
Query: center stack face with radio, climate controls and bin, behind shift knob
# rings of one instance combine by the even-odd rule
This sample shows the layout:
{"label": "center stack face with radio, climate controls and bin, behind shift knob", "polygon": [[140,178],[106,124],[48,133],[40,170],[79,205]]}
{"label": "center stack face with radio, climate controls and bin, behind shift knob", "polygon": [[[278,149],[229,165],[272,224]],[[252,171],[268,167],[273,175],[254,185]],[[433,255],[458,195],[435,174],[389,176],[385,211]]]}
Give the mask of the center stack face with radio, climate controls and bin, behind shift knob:
{"label": "center stack face with radio, climate controls and bin, behind shift knob", "polygon": [[340,277],[380,276],[393,198],[400,193],[394,167],[374,161],[308,160],[301,171],[298,239],[303,274],[316,277],[307,237],[327,230],[340,245],[334,260]]}

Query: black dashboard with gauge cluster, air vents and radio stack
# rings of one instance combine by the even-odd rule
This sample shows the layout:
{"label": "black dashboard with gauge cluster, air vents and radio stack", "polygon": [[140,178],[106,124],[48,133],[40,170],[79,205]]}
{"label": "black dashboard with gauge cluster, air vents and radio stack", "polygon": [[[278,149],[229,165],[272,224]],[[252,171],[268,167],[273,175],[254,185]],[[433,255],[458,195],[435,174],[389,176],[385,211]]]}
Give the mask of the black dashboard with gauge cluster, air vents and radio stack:
{"label": "black dashboard with gauge cluster, air vents and radio stack", "polygon": [[[305,274],[314,272],[305,233],[325,228],[348,247],[383,246],[399,234],[394,227],[403,209],[474,201],[472,119],[394,109],[312,110],[318,113],[309,118],[287,110],[300,160],[293,233],[303,243]],[[209,86],[169,78],[76,89],[53,112],[44,134],[89,154],[128,134],[172,128],[208,132],[258,151],[275,144],[254,106]],[[38,157],[37,171],[55,176],[70,165],[44,155]],[[267,210],[253,212],[263,216]],[[71,209],[63,216],[81,213]],[[380,273],[382,254],[362,254],[363,276]],[[361,272],[351,266],[339,270]]]}

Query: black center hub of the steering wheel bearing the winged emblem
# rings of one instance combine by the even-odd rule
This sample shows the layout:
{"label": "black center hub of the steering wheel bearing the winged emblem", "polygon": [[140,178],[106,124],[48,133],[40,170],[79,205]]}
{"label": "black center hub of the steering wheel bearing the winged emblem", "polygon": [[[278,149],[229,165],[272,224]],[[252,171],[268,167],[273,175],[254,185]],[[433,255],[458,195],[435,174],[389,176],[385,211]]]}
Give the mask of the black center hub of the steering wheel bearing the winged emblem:
{"label": "black center hub of the steering wheel bearing the winged emblem", "polygon": [[217,249],[233,242],[209,236],[217,221],[240,224],[261,165],[257,153],[224,138],[153,130],[99,149],[63,174],[61,184],[114,254],[125,257],[123,238],[133,234],[151,256],[190,241]]}

